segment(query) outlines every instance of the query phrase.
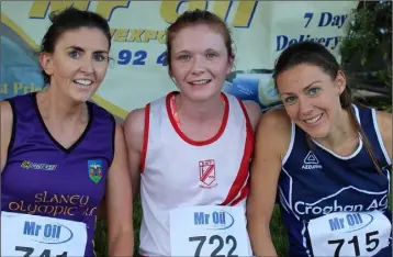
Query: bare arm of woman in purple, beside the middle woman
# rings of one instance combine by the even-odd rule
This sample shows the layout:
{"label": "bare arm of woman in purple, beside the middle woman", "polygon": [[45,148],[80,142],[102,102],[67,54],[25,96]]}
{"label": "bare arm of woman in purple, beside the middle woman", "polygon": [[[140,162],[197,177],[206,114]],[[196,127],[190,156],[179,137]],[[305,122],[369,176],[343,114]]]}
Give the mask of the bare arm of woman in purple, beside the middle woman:
{"label": "bare arm of woman in purple, beside the middle woman", "polygon": [[108,174],[106,215],[109,256],[133,256],[133,195],[124,134],[116,124],[114,158]]}

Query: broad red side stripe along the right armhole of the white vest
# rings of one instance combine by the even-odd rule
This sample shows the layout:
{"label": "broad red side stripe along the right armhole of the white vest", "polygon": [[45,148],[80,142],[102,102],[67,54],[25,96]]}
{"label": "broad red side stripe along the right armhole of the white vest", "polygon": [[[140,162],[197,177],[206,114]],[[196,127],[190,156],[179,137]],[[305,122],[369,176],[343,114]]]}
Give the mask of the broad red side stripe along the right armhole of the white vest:
{"label": "broad red side stripe along the right armhole of the white vest", "polygon": [[248,195],[248,192],[249,192],[249,179],[247,181],[246,181],[246,179],[248,178],[249,161],[250,161],[250,158],[252,156],[252,150],[254,150],[254,133],[252,133],[251,123],[250,123],[248,114],[247,114],[247,110],[246,110],[244,103],[239,99],[237,99],[237,100],[239,101],[243,113],[246,118],[246,130],[247,130],[246,144],[245,144],[245,149],[244,149],[244,155],[243,155],[243,159],[240,163],[239,171],[237,172],[236,179],[231,187],[228,195],[226,197],[225,201],[223,203],[221,203],[221,205],[227,205],[229,203],[231,203],[231,205],[236,205],[238,202],[244,200]]}

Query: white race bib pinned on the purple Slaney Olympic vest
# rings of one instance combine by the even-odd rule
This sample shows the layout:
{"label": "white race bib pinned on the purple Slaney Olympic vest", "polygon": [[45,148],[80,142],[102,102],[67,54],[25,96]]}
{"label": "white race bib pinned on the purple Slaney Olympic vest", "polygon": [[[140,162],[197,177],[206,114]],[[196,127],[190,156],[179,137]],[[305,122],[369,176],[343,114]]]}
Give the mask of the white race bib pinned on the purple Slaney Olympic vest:
{"label": "white race bib pinned on the purple Slaney Olympic vest", "polygon": [[85,256],[86,243],[85,223],[1,212],[1,256]]}

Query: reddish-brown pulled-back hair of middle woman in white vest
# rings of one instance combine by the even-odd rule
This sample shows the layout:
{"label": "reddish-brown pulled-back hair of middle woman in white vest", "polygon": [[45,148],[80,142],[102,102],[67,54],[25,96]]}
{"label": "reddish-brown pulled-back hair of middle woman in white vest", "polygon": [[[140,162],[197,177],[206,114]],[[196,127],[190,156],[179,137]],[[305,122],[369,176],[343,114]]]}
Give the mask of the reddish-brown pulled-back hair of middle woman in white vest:
{"label": "reddish-brown pulled-back hair of middle woman in white vest", "polygon": [[182,29],[191,25],[209,25],[210,27],[220,32],[224,37],[224,43],[228,57],[233,56],[233,40],[231,35],[231,30],[227,27],[226,23],[214,13],[211,13],[205,10],[193,10],[183,12],[167,30],[167,62],[168,62],[168,71],[171,72],[171,42],[177,32]]}

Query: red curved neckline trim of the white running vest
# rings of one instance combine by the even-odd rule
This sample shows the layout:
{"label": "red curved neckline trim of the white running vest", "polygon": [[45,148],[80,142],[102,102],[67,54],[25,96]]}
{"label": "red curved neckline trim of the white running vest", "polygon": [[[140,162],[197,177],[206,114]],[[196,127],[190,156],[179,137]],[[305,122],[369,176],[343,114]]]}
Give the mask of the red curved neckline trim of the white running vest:
{"label": "red curved neckline trim of the white running vest", "polygon": [[166,98],[166,105],[167,105],[167,113],[170,120],[170,123],[172,124],[172,127],[175,128],[176,133],[187,143],[189,143],[190,145],[195,145],[195,146],[203,146],[203,145],[209,145],[214,143],[215,141],[217,141],[220,138],[220,136],[224,133],[225,127],[226,127],[226,123],[228,121],[228,114],[229,114],[229,102],[228,99],[226,98],[226,96],[224,93],[222,93],[222,97],[224,99],[225,102],[225,108],[224,108],[224,118],[223,121],[221,123],[220,130],[218,132],[211,138],[205,139],[205,141],[193,141],[190,137],[188,137],[179,127],[178,123],[176,122],[176,118],[172,114],[171,111],[171,103],[170,100],[171,98],[179,92],[170,92],[168,93],[167,98]]}

